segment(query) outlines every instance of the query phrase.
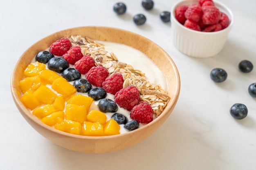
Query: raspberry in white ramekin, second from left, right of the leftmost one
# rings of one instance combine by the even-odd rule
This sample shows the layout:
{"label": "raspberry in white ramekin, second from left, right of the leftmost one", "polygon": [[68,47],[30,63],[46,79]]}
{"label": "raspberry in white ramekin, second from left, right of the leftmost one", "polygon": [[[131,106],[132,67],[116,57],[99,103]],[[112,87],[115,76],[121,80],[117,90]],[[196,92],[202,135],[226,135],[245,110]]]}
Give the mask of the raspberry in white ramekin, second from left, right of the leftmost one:
{"label": "raspberry in white ramekin, second from left, right of the leftmost one", "polygon": [[184,13],[186,19],[199,22],[202,17],[202,8],[199,4],[191,4]]}

